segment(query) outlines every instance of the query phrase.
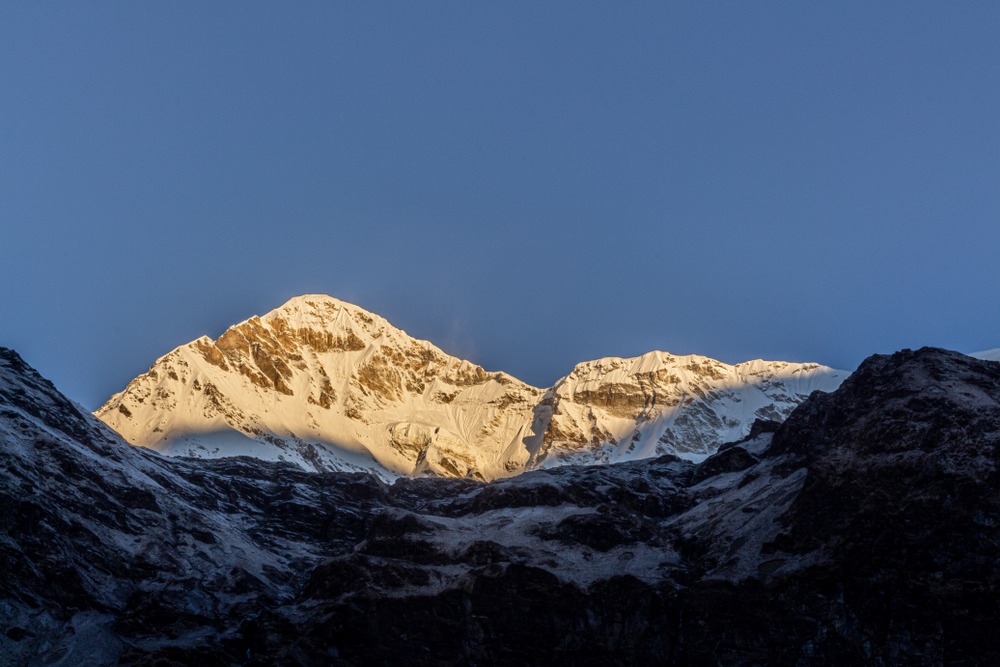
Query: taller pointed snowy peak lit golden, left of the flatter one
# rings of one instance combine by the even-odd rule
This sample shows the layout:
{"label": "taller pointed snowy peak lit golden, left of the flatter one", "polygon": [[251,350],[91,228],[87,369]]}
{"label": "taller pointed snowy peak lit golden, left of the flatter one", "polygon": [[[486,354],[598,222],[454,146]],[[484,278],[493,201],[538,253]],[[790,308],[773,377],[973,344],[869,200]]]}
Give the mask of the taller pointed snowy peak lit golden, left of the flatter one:
{"label": "taller pointed snowy peak lit golden, left of the flatter one", "polygon": [[307,295],[173,350],[96,414],[170,455],[492,479],[527,461],[524,429],[541,394]]}

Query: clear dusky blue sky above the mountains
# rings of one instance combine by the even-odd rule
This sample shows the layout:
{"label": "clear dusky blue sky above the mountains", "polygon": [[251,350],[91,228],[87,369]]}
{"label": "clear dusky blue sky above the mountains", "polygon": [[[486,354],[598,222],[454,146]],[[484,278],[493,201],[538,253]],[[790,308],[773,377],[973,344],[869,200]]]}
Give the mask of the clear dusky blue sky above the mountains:
{"label": "clear dusky blue sky above the mountains", "polygon": [[0,344],[90,408],[323,292],[547,385],[1000,346],[1000,3],[0,9]]}

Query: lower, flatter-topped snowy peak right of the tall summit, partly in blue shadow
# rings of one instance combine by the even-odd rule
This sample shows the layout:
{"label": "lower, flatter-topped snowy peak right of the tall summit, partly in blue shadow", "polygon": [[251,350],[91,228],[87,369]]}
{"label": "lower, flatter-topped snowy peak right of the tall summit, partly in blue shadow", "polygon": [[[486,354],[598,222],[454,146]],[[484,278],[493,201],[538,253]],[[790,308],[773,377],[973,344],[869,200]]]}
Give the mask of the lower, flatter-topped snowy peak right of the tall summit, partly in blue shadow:
{"label": "lower, flatter-topped snowy peak right of the tall summit, partly in blue shadow", "polygon": [[815,390],[848,375],[819,364],[649,352],[579,364],[543,399],[529,465],[609,463],[675,454],[701,460],[755,419],[781,421]]}

